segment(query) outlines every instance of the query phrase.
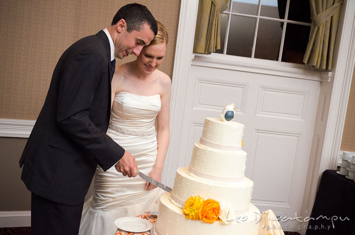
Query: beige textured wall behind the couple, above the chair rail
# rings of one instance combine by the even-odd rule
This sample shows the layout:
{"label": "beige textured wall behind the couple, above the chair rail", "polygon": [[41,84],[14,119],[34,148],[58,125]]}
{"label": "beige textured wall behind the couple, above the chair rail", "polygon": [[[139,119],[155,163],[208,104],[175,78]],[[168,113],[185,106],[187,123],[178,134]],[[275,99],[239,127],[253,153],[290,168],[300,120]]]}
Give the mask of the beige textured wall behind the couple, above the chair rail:
{"label": "beige textured wall behind the couple, above the chair rail", "polygon": [[171,76],[180,0],[0,0],[0,118],[36,120],[62,53],[109,26],[130,2],[146,5],[167,28],[170,41],[160,69]]}

